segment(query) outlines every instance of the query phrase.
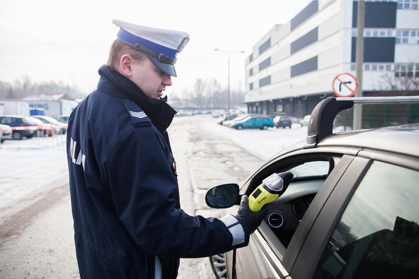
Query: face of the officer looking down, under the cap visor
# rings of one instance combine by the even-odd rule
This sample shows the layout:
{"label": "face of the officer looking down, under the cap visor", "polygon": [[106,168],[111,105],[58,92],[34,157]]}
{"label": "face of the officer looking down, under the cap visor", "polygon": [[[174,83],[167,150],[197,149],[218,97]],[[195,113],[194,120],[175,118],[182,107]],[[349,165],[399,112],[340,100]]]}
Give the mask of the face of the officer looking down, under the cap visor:
{"label": "face of the officer looking down, under the cap visor", "polygon": [[157,68],[148,57],[141,62],[135,61],[132,63],[132,76],[130,79],[147,96],[155,99],[163,96],[166,86],[172,85],[172,77]]}

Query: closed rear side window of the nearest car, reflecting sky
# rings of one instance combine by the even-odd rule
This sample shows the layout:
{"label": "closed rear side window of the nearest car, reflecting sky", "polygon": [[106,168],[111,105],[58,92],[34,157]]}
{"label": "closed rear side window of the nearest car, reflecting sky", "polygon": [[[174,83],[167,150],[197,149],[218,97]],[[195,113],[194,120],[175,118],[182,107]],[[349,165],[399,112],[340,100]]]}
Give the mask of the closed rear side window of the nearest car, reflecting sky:
{"label": "closed rear side window of the nearest car, reflecting sky", "polygon": [[419,278],[419,172],[374,162],[313,278]]}

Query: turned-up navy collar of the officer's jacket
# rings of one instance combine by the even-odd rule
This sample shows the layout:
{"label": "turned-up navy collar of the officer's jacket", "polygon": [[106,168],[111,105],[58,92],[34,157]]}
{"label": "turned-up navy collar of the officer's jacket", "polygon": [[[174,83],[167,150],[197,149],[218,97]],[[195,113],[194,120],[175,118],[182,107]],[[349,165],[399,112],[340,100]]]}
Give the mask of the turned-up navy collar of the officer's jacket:
{"label": "turned-up navy collar of the officer's jacket", "polygon": [[[99,75],[98,89],[119,98],[132,100],[150,117],[160,133],[163,133],[172,123],[177,112],[167,104],[167,96],[160,99],[148,97],[140,87],[119,72],[110,71],[106,65],[99,68]],[[106,90],[107,88],[110,90]]]}

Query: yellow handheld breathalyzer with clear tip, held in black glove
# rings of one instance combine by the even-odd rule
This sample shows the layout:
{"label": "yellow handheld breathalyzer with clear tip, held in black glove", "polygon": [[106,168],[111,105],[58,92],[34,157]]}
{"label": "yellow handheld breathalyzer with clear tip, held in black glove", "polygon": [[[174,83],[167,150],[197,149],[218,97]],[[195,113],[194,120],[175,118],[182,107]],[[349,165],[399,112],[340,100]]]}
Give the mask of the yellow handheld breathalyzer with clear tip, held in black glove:
{"label": "yellow handheld breathalyzer with clear tip, held in black glove", "polygon": [[274,201],[288,188],[294,175],[290,171],[273,173],[249,195],[249,207],[253,212],[261,210],[262,206]]}

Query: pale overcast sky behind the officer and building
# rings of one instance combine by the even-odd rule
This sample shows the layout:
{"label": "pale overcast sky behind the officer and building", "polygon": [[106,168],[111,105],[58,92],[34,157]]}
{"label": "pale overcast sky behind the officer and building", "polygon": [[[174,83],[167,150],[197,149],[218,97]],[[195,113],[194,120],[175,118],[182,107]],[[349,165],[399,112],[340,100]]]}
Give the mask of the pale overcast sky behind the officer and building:
{"label": "pale overcast sky behind the officer and building", "polygon": [[0,0],[0,80],[28,76],[61,81],[89,93],[97,69],[119,30],[113,19],[188,32],[178,55],[178,77],[166,93],[192,90],[197,79],[244,89],[244,59],[275,24],[284,24],[311,0]]}

